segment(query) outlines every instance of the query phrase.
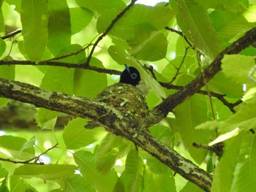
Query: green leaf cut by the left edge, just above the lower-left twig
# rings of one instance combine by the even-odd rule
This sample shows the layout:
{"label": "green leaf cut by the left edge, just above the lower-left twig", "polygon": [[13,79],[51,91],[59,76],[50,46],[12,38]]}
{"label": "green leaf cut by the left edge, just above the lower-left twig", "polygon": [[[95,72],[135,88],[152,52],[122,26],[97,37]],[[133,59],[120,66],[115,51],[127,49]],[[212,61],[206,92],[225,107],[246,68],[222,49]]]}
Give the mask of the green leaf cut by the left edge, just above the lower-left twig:
{"label": "green leaf cut by the left edge, just above the lower-left twig", "polygon": [[34,147],[28,146],[28,141],[21,137],[1,136],[0,152],[13,158],[29,160],[34,158]]}

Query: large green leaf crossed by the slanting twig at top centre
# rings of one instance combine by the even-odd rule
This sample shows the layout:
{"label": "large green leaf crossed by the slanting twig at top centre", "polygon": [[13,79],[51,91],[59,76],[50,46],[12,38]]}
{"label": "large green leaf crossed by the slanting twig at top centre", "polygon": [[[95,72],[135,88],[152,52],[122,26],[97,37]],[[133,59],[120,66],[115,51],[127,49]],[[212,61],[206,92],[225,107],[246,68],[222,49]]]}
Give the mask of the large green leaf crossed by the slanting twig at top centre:
{"label": "large green leaf crossed by the slanting twig at top centre", "polygon": [[[110,23],[119,11],[110,10],[105,12],[97,20],[97,31],[102,33],[108,28]],[[110,34],[120,37],[132,37],[131,29],[144,28],[149,31],[156,31],[165,28],[173,18],[174,14],[168,7],[150,7],[143,4],[133,5],[118,22],[113,26]],[[126,34],[124,36],[124,34]]]}

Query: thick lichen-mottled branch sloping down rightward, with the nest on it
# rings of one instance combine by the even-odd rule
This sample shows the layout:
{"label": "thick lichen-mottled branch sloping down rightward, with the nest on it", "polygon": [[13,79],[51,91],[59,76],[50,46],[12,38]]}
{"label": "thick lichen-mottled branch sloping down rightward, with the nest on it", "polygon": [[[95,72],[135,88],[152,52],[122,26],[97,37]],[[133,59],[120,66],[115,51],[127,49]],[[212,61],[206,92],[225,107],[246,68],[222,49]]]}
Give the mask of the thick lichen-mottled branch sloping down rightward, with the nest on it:
{"label": "thick lichen-mottled branch sloping down rightward, with the nest on it", "polygon": [[143,94],[132,85],[118,83],[106,88],[97,99],[86,99],[0,79],[0,96],[94,120],[108,131],[134,142],[200,188],[210,191],[212,178],[208,172],[159,142],[146,130],[147,121],[155,117],[148,114]]}

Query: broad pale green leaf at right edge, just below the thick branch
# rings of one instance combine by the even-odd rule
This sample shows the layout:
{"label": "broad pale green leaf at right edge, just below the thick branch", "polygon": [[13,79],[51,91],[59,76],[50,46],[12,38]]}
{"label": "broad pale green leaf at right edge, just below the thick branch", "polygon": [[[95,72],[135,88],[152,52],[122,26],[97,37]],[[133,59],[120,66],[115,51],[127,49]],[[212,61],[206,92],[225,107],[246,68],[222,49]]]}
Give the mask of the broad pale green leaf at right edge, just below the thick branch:
{"label": "broad pale green leaf at right edge, just below the thick branch", "polygon": [[222,70],[233,81],[248,83],[248,73],[255,65],[255,58],[244,55],[225,55],[222,58]]}

